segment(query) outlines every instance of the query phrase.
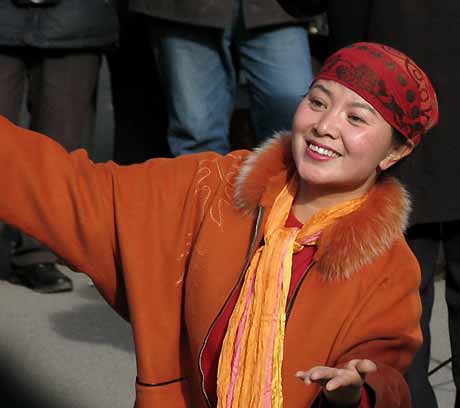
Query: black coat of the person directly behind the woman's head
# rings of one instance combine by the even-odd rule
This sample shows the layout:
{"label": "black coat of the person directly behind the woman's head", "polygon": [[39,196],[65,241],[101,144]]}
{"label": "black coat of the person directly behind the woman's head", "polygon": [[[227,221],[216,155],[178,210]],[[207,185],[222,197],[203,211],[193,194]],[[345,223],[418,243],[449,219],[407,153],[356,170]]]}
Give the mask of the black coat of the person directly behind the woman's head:
{"label": "black coat of the person directly behind the woman's head", "polygon": [[[281,0],[295,6],[304,0]],[[460,220],[460,1],[328,0],[331,51],[374,41],[407,53],[438,94],[440,121],[390,170],[412,195],[412,224]]]}

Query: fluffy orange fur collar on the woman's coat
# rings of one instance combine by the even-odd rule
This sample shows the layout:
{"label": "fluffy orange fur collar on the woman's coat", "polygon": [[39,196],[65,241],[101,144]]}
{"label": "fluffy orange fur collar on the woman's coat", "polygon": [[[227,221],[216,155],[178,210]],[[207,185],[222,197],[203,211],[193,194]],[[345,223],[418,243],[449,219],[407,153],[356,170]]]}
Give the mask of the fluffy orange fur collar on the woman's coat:
{"label": "fluffy orange fur collar on the woman's coat", "polygon": [[[292,169],[291,134],[278,133],[247,157],[236,180],[235,204],[256,209],[270,181]],[[410,207],[404,187],[382,177],[360,208],[323,231],[315,255],[323,278],[348,279],[388,250],[405,231]]]}

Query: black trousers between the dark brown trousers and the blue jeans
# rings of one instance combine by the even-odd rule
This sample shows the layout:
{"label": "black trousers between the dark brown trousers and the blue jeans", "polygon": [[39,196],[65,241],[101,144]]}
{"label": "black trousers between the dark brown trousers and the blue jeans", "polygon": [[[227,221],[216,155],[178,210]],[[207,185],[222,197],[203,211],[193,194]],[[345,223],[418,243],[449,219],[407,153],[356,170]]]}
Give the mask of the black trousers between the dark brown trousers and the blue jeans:
{"label": "black trousers between the dark brown trousers and the blue jeans", "polygon": [[150,18],[130,13],[128,2],[120,3],[118,11],[118,47],[106,54],[115,119],[113,158],[132,164],[169,157],[165,98],[146,27]]}

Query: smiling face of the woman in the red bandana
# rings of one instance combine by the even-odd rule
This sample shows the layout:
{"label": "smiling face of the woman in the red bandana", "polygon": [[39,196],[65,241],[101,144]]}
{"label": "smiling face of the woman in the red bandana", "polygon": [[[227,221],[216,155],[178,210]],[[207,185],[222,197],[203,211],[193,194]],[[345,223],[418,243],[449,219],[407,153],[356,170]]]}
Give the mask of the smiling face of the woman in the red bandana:
{"label": "smiling face of the woman in the red bandana", "polygon": [[303,184],[350,198],[366,192],[380,170],[411,150],[395,150],[391,126],[361,96],[334,81],[315,82],[297,109],[292,132]]}

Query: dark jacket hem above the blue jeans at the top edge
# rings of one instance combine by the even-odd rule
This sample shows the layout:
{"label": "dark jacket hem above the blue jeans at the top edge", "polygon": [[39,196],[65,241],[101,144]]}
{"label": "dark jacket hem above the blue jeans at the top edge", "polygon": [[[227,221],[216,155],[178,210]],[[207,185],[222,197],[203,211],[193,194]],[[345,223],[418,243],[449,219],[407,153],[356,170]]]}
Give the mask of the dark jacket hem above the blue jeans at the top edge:
{"label": "dark jacket hem above the blue jeans at the top edge", "polygon": [[[131,0],[130,8],[152,17],[202,27],[227,28],[233,1],[240,0]],[[276,0],[242,0],[247,28],[295,23]]]}

